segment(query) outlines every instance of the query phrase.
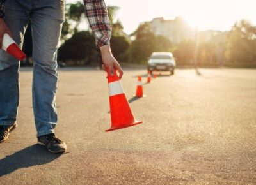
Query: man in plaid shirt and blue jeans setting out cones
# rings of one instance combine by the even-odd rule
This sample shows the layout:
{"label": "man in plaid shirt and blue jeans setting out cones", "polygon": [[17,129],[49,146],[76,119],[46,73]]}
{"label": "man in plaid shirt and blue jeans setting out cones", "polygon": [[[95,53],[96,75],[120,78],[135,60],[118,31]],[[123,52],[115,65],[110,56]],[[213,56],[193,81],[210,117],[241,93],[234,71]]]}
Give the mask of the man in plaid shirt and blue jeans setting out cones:
{"label": "man in plaid shirt and blue jeans setting out cones", "polygon": [[[57,50],[64,22],[64,0],[0,0],[0,48],[8,33],[22,46],[23,35],[31,20],[33,37],[33,110],[38,144],[50,152],[65,152],[67,145],[54,134],[57,124],[56,84]],[[119,78],[123,71],[111,54],[111,26],[104,0],[84,0],[84,8],[96,45],[102,54],[103,68]],[[85,49],[85,48],[84,48]],[[19,107],[19,61],[0,50],[0,142],[17,127]]]}

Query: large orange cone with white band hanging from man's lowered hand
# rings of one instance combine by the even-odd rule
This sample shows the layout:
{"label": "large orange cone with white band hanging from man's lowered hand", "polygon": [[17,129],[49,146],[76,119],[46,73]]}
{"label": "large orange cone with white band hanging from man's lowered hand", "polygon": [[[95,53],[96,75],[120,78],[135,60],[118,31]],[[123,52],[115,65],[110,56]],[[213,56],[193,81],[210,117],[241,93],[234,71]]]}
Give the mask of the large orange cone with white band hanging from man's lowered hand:
{"label": "large orange cone with white band hanging from man's lowered hand", "polygon": [[113,76],[110,75],[109,68],[107,68],[107,72],[111,128],[106,129],[106,131],[113,131],[115,129],[141,124],[143,121],[136,121],[136,119],[134,119],[131,107],[125,97],[124,89],[118,76],[116,75],[116,71],[114,71]]}

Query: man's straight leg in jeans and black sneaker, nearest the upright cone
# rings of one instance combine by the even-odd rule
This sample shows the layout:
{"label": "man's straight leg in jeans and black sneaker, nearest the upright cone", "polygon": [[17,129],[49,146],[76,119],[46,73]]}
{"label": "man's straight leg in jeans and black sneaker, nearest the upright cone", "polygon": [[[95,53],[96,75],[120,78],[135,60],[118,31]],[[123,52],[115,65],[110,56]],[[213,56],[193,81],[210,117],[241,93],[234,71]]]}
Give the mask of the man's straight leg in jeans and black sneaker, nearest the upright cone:
{"label": "man's straight leg in jeans and black sneaker, nearest the upright cone", "polygon": [[54,135],[57,124],[57,50],[64,21],[64,3],[32,1],[33,108],[38,144],[51,152],[65,152],[67,145]]}

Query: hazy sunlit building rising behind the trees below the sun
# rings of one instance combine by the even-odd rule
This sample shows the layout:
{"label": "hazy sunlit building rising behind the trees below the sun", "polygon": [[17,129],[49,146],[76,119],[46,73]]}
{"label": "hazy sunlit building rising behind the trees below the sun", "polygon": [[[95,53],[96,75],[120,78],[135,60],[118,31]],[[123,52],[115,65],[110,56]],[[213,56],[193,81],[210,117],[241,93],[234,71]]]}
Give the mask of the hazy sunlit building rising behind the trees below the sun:
{"label": "hazy sunlit building rising behind the trees below the sun", "polygon": [[[179,45],[182,41],[195,41],[195,47],[199,47],[201,63],[223,65],[225,40],[228,32],[206,30],[197,31],[189,26],[182,17],[173,20],[164,20],[163,17],[154,18],[147,22],[152,33],[156,36],[165,36],[173,45]],[[197,44],[196,44],[197,43]]]}

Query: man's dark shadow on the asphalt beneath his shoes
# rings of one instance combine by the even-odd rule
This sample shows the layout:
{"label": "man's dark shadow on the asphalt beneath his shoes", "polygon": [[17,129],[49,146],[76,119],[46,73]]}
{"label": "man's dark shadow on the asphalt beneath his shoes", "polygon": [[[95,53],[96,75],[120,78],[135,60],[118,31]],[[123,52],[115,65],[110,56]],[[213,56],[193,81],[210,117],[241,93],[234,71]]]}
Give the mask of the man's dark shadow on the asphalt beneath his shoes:
{"label": "man's dark shadow on the asphalt beneath his shoes", "polygon": [[0,159],[0,177],[11,174],[20,168],[51,163],[51,161],[60,156],[60,154],[49,154],[44,147],[38,144],[31,145],[10,156],[6,156],[4,159]]}

